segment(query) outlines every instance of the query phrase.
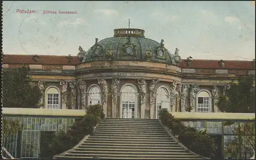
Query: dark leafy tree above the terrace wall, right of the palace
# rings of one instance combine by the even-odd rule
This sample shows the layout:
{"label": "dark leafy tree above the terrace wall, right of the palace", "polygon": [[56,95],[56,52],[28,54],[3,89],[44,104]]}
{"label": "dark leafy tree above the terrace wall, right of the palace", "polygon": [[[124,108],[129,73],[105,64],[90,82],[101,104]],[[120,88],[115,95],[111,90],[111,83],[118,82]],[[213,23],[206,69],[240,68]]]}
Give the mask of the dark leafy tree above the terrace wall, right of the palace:
{"label": "dark leafy tree above the terrace wall, right of the palace", "polygon": [[239,79],[238,83],[231,82],[230,88],[219,97],[217,106],[222,112],[254,113],[255,86],[253,77]]}

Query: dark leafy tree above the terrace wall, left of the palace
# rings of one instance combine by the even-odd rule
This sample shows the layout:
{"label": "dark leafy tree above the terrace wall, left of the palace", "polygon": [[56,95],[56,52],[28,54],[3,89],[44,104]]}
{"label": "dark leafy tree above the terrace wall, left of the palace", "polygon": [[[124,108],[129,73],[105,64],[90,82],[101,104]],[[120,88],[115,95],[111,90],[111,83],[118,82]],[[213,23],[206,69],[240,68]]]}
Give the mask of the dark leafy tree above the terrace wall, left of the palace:
{"label": "dark leafy tree above the terrace wall, left of the palace", "polygon": [[28,76],[29,67],[3,72],[3,107],[37,108],[42,93]]}

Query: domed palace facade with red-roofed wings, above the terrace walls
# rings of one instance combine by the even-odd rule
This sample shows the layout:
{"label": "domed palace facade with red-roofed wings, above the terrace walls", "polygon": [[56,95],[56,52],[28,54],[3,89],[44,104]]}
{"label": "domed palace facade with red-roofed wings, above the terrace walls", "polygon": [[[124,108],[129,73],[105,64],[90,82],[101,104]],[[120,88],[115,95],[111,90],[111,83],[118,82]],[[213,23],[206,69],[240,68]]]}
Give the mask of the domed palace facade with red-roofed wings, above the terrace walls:
{"label": "domed palace facade with red-roofed wings, above the terrace walls", "polygon": [[101,103],[108,118],[156,119],[158,110],[218,112],[228,84],[255,74],[255,61],[181,59],[144,30],[116,29],[75,56],[5,55],[4,68],[29,65],[44,92],[43,108],[86,109]]}

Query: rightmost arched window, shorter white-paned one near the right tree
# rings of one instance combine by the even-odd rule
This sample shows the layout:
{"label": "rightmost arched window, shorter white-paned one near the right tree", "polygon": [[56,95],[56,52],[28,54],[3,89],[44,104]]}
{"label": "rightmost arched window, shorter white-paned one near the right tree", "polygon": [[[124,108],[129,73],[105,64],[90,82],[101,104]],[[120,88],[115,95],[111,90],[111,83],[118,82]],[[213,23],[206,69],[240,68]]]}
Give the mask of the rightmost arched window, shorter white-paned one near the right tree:
{"label": "rightmost arched window, shorter white-paned one near the right tree", "polygon": [[210,112],[210,94],[202,90],[197,95],[197,112]]}

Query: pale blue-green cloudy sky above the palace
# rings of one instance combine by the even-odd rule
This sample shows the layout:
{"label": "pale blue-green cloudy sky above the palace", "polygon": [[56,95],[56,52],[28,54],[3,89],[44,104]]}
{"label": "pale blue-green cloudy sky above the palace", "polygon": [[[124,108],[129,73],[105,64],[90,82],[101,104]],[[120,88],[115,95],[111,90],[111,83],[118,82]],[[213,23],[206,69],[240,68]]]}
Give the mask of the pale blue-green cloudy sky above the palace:
{"label": "pale blue-green cloudy sky above the palace", "polygon": [[[22,10],[35,13],[20,13]],[[57,14],[46,14],[46,11]],[[76,11],[77,14],[58,14]],[[45,13],[45,14],[44,14]],[[23,55],[77,55],[113,37],[114,29],[145,30],[145,37],[181,58],[255,58],[255,5],[228,2],[3,2],[3,52]]]}

